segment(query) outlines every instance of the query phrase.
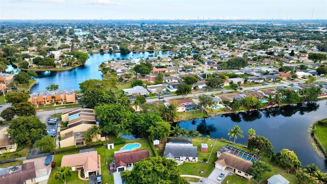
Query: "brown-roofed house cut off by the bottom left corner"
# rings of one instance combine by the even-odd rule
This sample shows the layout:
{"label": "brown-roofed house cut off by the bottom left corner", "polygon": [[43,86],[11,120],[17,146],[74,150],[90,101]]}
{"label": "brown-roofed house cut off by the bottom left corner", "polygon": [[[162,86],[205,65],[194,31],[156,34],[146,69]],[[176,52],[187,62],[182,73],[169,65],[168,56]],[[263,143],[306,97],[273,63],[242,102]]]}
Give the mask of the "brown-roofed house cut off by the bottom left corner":
{"label": "brown-roofed house cut off by the bottom left corner", "polygon": [[20,166],[11,166],[0,170],[0,183],[17,184],[17,183],[36,183],[35,181],[34,162],[28,162]]}

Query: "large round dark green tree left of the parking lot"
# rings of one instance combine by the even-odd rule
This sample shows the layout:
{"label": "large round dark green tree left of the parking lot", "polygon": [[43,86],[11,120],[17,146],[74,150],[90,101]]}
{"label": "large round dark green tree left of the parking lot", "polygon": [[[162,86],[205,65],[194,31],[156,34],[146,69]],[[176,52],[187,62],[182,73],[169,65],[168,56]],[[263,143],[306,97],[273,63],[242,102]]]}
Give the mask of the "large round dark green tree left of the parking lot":
{"label": "large round dark green tree left of the parking lot", "polygon": [[11,121],[8,133],[17,144],[28,144],[42,139],[46,125],[36,117],[18,117]]}

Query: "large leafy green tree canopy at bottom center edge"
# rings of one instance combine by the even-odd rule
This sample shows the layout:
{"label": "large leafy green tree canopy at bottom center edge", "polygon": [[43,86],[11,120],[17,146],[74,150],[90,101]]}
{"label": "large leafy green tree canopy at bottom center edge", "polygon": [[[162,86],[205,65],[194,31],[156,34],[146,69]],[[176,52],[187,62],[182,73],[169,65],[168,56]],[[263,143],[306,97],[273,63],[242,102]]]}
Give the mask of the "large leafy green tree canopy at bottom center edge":
{"label": "large leafy green tree canopy at bottom center edge", "polygon": [[130,184],[189,183],[180,176],[175,160],[160,156],[140,160],[132,171],[124,171],[121,176]]}

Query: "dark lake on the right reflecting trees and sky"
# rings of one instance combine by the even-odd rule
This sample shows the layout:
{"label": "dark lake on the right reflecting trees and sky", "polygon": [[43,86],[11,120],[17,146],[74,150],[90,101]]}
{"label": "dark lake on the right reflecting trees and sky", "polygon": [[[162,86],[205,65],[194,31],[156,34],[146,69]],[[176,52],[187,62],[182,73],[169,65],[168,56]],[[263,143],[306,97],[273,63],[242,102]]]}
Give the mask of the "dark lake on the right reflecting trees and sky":
{"label": "dark lake on the right reflecting trees and sky", "polygon": [[[309,127],[313,122],[327,118],[327,100],[301,105],[286,105],[261,111],[223,114],[211,118],[182,121],[178,125],[186,130],[194,129],[202,135],[215,139],[229,140],[229,128],[239,125],[244,138],[238,137],[236,143],[247,145],[247,130],[253,128],[256,135],[265,136],[275,152],[283,148],[293,150],[302,166],[316,164],[321,171],[327,172],[323,155],[312,146]],[[233,141],[233,138],[230,139]]]}

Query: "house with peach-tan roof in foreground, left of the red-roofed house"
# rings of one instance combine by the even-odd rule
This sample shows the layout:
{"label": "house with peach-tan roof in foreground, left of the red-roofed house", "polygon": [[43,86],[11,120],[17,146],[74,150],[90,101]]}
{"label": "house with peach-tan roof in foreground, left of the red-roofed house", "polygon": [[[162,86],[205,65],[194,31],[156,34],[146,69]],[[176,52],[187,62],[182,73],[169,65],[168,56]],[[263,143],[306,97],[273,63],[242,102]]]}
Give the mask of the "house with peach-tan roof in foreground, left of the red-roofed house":
{"label": "house with peach-tan roof in foreground, left of the red-roofed house", "polygon": [[63,155],[60,167],[72,167],[72,171],[84,169],[84,177],[96,175],[98,171],[98,151],[81,152],[77,154]]}

